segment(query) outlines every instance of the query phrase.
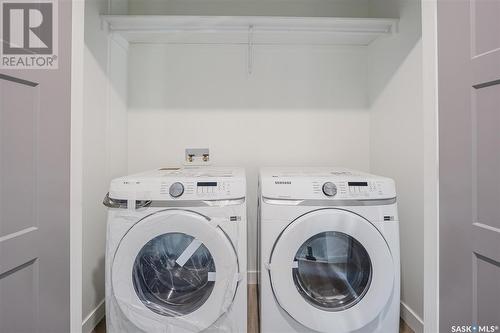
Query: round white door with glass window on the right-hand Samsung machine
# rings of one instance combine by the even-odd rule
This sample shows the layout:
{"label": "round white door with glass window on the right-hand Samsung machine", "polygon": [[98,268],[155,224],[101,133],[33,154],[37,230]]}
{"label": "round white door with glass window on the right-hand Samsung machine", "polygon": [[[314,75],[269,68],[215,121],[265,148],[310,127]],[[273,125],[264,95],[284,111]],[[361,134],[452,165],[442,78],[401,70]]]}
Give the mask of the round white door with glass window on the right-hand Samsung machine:
{"label": "round white door with glass window on the right-hand Samsung machine", "polygon": [[394,266],[370,222],[348,211],[320,209],[290,223],[276,240],[269,276],[279,305],[302,325],[350,332],[384,310]]}

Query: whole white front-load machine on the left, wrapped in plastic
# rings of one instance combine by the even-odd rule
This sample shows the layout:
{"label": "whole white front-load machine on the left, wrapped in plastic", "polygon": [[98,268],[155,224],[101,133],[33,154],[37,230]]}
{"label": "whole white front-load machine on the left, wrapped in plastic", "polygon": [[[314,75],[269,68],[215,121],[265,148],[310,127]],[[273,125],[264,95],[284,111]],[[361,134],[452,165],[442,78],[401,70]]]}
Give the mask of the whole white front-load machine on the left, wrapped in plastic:
{"label": "whole white front-load machine on the left, wrapped in plastic", "polygon": [[111,182],[108,332],[246,332],[246,180],[164,168]]}

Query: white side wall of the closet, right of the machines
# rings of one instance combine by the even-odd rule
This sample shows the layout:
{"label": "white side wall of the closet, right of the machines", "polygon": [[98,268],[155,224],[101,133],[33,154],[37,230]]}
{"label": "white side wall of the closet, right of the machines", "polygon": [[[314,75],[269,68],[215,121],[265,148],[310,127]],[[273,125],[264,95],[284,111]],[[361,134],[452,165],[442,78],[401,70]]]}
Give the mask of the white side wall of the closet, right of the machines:
{"label": "white side wall of the closet, right of the machines", "polygon": [[424,127],[420,2],[373,2],[375,11],[399,8],[399,34],[369,47],[370,167],[392,177],[398,190],[402,316],[423,327]]}

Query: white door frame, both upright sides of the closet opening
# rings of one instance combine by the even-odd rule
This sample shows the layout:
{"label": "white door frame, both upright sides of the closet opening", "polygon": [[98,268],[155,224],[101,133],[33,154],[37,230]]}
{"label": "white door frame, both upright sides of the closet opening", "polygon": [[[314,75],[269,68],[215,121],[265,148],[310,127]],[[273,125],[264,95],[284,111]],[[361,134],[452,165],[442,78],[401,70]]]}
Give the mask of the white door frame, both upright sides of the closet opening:
{"label": "white door frame, both upright sides of the closet opening", "polygon": [[[71,59],[71,332],[82,331],[82,122],[83,122],[83,0],[72,2]],[[438,331],[439,323],[439,188],[437,0],[422,1],[422,60],[424,108],[424,332]]]}

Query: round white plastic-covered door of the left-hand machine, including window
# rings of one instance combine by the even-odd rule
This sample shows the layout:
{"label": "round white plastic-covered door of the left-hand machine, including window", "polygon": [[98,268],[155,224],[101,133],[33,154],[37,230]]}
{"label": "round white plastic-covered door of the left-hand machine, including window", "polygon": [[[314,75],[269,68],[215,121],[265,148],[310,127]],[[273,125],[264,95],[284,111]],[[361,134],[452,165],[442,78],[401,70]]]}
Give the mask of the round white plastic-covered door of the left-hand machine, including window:
{"label": "round white plastic-covered door of the left-hand machine, including window", "polygon": [[120,309],[146,332],[210,327],[230,306],[238,279],[226,234],[185,210],[139,221],[121,240],[111,269]]}

